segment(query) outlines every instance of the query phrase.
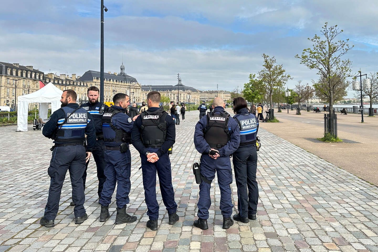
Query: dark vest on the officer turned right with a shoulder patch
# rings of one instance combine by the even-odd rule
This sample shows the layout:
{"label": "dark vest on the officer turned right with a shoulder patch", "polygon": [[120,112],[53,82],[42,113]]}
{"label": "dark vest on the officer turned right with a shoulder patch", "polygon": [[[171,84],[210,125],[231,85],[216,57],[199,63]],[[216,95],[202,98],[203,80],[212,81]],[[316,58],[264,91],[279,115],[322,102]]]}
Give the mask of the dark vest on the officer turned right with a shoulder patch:
{"label": "dark vest on the officer turned right with a shoulder patch", "polygon": [[120,128],[116,128],[112,123],[113,116],[118,113],[122,112],[119,110],[110,109],[107,113],[102,114],[101,121],[102,132],[104,134],[104,142],[117,142],[119,144],[121,144],[122,142],[130,142],[130,134],[121,130]]}

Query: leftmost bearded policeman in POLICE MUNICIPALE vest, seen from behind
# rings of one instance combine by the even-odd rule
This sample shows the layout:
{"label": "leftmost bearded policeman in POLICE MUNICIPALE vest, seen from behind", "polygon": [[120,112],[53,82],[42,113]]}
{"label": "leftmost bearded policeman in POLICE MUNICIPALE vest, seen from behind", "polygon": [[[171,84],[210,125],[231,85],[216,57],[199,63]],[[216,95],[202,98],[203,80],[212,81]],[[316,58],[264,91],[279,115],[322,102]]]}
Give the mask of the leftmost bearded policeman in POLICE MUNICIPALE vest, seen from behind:
{"label": "leftmost bearded policeman in POLICE MUNICIPALE vest, seen from behind", "polygon": [[[81,224],[88,218],[83,206],[85,196],[82,176],[85,162],[89,160],[90,152],[96,144],[95,125],[90,114],[76,103],[75,91],[64,90],[61,98],[60,102],[64,106],[51,114],[42,130],[43,136],[54,140],[50,167],[47,170],[50,176],[50,189],[45,214],[40,220],[40,224],[45,227],[54,226],[67,170],[70,172],[72,200],[75,204],[75,224]],[[88,142],[87,158],[84,147],[85,135]]]}

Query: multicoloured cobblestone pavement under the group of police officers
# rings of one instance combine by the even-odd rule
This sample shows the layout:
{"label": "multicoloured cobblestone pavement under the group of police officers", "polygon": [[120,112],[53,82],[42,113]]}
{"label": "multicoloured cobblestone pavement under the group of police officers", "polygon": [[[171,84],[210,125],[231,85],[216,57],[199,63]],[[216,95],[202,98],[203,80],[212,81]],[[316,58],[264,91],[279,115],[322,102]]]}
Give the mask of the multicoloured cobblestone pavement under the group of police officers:
{"label": "multicoloured cobblestone pavement under the group of police officers", "polygon": [[[178,137],[171,156],[180,221],[168,225],[157,185],[160,204],[157,231],[146,228],[147,207],[135,149],[131,204],[127,210],[138,217],[135,223],[114,224],[114,201],[109,209],[110,220],[99,222],[96,169],[91,159],[85,190],[88,220],[81,225],[73,222],[67,176],[56,226],[40,226],[39,218],[43,216],[48,195],[51,141],[30,126],[28,132],[15,132],[15,126],[0,128],[0,252],[378,251],[377,187],[262,129],[259,130],[262,148],[258,153],[257,220],[235,221],[230,229],[222,229],[220,191],[215,179],[209,229],[193,227],[197,218],[198,185],[191,166],[199,158],[193,144],[198,112],[186,113],[186,118],[177,126]],[[236,204],[235,182],[231,186]]]}

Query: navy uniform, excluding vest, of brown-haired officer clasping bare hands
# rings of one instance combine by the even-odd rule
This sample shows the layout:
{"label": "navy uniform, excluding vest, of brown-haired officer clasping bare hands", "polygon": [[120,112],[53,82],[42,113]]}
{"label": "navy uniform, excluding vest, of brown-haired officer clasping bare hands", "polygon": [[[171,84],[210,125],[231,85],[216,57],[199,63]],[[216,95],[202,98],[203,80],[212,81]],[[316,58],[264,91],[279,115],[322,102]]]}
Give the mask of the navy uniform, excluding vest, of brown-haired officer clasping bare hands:
{"label": "navy uniform, excluding vest, of brown-haired officer clasping bare hands", "polygon": [[[151,107],[147,112],[155,112],[160,110],[158,107]],[[170,167],[170,160],[168,156],[168,149],[175,143],[176,130],[175,122],[171,116],[167,115],[165,118],[167,130],[166,139],[160,147],[146,147],[141,138],[142,116],[138,116],[135,120],[132,131],[132,144],[140,153],[142,161],[143,187],[144,197],[147,205],[147,215],[150,220],[158,220],[159,204],[156,200],[156,172],[159,177],[160,191],[163,198],[164,206],[168,214],[175,213],[177,204],[175,203],[175,193],[172,186],[172,173]],[[147,152],[155,152],[159,160],[155,163],[147,161]]]}

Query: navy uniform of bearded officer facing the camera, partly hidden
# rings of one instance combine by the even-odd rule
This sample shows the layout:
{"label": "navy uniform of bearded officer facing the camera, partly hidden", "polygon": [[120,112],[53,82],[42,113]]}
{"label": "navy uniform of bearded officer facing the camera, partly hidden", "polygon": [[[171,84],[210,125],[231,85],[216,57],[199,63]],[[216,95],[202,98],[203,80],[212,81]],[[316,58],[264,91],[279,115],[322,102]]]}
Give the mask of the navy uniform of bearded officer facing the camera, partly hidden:
{"label": "navy uniform of bearded officer facing the camera, partly hidden", "polygon": [[[93,159],[95,159],[96,162],[96,167],[97,167],[97,178],[98,178],[98,197],[101,198],[101,191],[102,187],[104,186],[105,182],[105,175],[104,175],[104,169],[105,169],[105,158],[104,158],[104,137],[102,135],[102,114],[108,110],[108,106],[104,104],[104,109],[101,111],[101,106],[103,104],[100,102],[96,102],[95,104],[91,104],[90,102],[84,103],[80,107],[84,108],[85,110],[88,111],[88,113],[91,114],[93,123],[95,124],[95,129],[96,129],[96,146],[92,150],[92,156]],[[83,174],[83,186],[85,190],[85,181],[87,179],[87,169],[88,169],[88,162],[85,164],[85,171]]]}

